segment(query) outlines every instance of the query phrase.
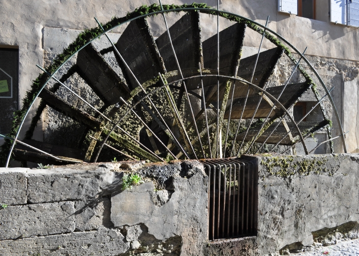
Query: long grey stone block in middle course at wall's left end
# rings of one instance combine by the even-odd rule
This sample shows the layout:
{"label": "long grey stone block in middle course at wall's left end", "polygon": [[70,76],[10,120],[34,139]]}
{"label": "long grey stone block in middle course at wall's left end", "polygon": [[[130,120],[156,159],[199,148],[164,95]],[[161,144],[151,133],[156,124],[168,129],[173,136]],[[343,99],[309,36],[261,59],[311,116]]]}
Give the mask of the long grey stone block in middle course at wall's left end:
{"label": "long grey stone block in middle course at wall's left end", "polygon": [[0,240],[74,231],[74,202],[8,206],[0,210]]}

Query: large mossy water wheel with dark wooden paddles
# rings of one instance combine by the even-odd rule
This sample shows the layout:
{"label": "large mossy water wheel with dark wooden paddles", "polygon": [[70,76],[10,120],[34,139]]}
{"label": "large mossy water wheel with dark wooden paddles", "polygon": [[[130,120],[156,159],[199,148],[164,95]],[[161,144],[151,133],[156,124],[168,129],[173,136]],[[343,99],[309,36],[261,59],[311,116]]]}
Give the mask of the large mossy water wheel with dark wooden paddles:
{"label": "large mossy water wheel with dark wooden paddles", "polygon": [[[210,19],[217,30],[206,37]],[[220,30],[221,23],[229,26]],[[142,6],[98,24],[82,32],[51,65],[40,67],[43,73],[15,113],[2,145],[4,165],[10,159],[64,164],[297,154],[296,147],[309,154],[313,148],[305,139],[319,130],[327,131],[330,143],[328,113],[343,134],[318,73],[267,24],[197,3]],[[153,24],[162,24],[156,35]],[[119,28],[120,37],[113,41],[109,34]],[[253,54],[243,46],[248,33],[249,40],[258,39]],[[107,43],[101,45],[97,38]],[[263,42],[271,47],[264,49]],[[281,61],[291,67],[283,72],[284,82],[273,79]],[[322,112],[319,120],[295,120],[293,106],[308,93]],[[29,117],[37,98],[36,115]],[[330,110],[324,108],[324,98]],[[35,141],[33,131],[44,111],[59,126],[44,142]],[[19,138],[26,118],[32,118],[30,128]]]}

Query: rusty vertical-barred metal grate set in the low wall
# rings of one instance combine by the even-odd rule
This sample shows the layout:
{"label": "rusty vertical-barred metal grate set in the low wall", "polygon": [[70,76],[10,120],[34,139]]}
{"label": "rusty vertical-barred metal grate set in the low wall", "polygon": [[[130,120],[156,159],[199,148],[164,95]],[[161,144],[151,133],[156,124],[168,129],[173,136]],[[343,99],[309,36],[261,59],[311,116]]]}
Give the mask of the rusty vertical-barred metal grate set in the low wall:
{"label": "rusty vertical-barred metal grate set in the low wall", "polygon": [[257,171],[243,159],[204,160],[209,176],[209,240],[257,233]]}

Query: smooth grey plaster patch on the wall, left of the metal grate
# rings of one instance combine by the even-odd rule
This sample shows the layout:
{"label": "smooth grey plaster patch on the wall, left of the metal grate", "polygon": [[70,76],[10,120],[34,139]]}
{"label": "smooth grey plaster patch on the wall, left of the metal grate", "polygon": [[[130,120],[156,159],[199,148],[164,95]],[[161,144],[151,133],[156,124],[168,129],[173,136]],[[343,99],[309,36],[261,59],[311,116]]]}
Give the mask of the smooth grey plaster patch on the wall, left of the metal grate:
{"label": "smooth grey plaster patch on the wall, left of the metal grate", "polygon": [[[159,166],[158,169],[164,168]],[[148,227],[148,233],[157,240],[173,239],[179,235],[183,255],[201,255],[202,245],[207,241],[208,177],[203,166],[196,168],[188,162],[179,173],[185,170],[191,172],[189,178],[172,177],[170,187],[173,191],[168,193],[169,199],[166,198],[161,204],[154,200],[157,193],[153,192],[152,182],[112,196],[111,221],[115,227],[144,224]],[[133,229],[128,229],[127,241],[134,240],[138,234]],[[136,247],[136,243],[133,246]]]}

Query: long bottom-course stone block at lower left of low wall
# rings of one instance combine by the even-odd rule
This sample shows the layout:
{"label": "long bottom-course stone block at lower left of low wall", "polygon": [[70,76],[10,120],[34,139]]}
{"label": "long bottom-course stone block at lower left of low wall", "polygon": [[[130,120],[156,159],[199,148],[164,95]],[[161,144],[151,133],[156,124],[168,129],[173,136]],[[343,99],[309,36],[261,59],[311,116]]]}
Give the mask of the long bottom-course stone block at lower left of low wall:
{"label": "long bottom-course stone block at lower left of low wall", "polygon": [[0,255],[121,255],[129,243],[118,230],[96,230],[0,241]]}

